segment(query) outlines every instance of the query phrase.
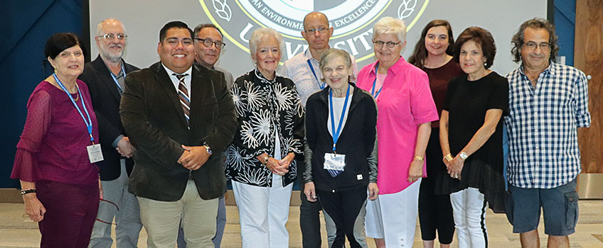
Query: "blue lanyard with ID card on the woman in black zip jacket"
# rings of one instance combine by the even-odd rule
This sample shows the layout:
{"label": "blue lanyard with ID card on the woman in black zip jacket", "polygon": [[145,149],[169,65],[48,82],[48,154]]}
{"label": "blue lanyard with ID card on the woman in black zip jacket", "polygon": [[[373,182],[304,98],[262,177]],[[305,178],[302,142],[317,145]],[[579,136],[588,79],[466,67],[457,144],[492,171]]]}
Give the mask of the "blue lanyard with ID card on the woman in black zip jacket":
{"label": "blue lanyard with ID card on the woman in black zip jacket", "polygon": [[[331,130],[333,132],[333,153],[327,152],[324,154],[323,169],[339,171],[338,173],[341,173],[341,171],[343,171],[343,169],[345,169],[346,167],[346,154],[337,154],[336,147],[337,141],[339,140],[339,135],[341,135],[341,126],[343,125],[343,119],[346,117],[346,108],[348,106],[349,97],[350,85],[348,84],[348,91],[346,92],[346,100],[343,101],[343,110],[341,111],[341,117],[339,118],[339,125],[337,128],[335,128],[335,115],[333,114],[333,91],[329,91],[329,111],[331,111]],[[331,175],[333,175],[333,173],[331,173]]]}

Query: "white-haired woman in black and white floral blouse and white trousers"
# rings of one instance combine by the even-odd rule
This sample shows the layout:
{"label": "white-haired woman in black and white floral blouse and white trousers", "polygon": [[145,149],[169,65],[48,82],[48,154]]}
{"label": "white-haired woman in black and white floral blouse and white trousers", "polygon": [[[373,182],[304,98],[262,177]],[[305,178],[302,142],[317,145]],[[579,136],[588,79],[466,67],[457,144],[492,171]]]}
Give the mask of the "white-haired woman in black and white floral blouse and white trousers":
{"label": "white-haired woman in black and white floral blouse and white trousers", "polygon": [[304,107],[295,84],[277,77],[282,36],[259,28],[250,38],[256,68],[239,77],[231,93],[239,129],[228,147],[226,176],[233,180],[242,247],[289,247],[294,158],[303,151]]}

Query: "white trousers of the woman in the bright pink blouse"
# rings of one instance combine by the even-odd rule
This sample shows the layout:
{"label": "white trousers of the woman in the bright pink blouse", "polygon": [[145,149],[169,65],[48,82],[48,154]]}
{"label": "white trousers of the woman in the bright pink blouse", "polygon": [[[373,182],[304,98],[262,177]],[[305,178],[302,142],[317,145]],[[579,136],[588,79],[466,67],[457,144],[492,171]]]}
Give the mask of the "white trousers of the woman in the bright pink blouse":
{"label": "white trousers of the woman in the bright pink blouse", "polygon": [[385,239],[385,247],[412,247],[415,242],[421,179],[398,193],[379,195],[366,204],[366,236]]}

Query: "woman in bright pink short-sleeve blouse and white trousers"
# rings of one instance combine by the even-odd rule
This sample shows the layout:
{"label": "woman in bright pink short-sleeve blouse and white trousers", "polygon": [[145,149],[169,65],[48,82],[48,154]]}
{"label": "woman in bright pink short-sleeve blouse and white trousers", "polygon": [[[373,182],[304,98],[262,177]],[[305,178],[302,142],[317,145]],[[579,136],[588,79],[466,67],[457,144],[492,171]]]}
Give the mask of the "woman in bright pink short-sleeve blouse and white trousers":
{"label": "woman in bright pink short-sleeve blouse and white trousers", "polygon": [[358,72],[358,87],[373,94],[379,111],[380,191],[366,206],[366,235],[377,247],[412,247],[425,148],[438,114],[427,74],[400,56],[404,22],[381,18],[373,27],[373,45],[377,62]]}

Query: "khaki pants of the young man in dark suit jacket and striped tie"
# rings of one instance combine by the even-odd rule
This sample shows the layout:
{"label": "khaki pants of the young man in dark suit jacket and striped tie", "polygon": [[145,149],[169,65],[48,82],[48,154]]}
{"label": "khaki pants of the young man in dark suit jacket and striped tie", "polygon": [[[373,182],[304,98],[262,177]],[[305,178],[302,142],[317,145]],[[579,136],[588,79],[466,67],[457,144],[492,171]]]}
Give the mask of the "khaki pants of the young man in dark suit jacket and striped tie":
{"label": "khaki pants of the young man in dark suit jacket and striped tie", "polygon": [[182,219],[184,239],[188,248],[213,248],[218,198],[203,200],[195,182],[189,180],[178,201],[155,201],[138,197],[140,220],[146,230],[149,248],[176,246],[178,225]]}

